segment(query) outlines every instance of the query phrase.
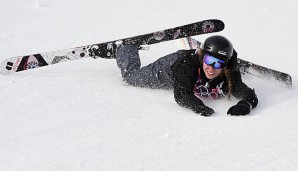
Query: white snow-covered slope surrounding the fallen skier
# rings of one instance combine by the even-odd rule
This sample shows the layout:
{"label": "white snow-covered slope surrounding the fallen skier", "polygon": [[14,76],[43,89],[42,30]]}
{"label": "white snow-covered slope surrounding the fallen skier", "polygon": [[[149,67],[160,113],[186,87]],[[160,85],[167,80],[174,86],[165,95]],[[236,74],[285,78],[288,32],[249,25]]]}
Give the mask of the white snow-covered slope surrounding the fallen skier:
{"label": "white snow-covered slope surrounding the fallen skier", "polygon": [[[0,170],[297,169],[297,9],[295,0],[0,0],[1,61],[217,18],[240,58],[294,85],[245,75],[258,107],[232,117],[235,99],[205,101],[216,113],[203,117],[172,91],[126,85],[115,60],[0,75]],[[176,50],[152,45],[143,65]]]}

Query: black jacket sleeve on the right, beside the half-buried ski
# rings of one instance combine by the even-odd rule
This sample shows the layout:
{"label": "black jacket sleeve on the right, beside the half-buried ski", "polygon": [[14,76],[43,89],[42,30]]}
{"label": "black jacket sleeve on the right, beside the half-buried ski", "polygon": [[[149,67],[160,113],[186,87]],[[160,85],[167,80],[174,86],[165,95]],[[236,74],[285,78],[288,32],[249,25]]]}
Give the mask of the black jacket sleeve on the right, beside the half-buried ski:
{"label": "black jacket sleeve on the right, beside the half-buried ski", "polygon": [[239,71],[233,71],[234,86],[232,95],[236,98],[248,102],[252,108],[258,105],[258,97],[255,90],[249,88],[242,82],[241,74]]}

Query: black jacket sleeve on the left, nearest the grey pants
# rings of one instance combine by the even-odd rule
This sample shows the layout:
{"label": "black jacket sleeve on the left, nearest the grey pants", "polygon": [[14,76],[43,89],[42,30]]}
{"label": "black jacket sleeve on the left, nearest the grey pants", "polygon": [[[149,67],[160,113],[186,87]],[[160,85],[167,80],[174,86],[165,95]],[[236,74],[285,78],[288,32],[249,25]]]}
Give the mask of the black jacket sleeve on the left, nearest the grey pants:
{"label": "black jacket sleeve on the left, nearest the grey pants", "polygon": [[174,79],[174,98],[182,107],[198,112],[204,103],[194,95],[193,89],[197,80],[197,68],[189,58],[181,57],[172,66]]}

